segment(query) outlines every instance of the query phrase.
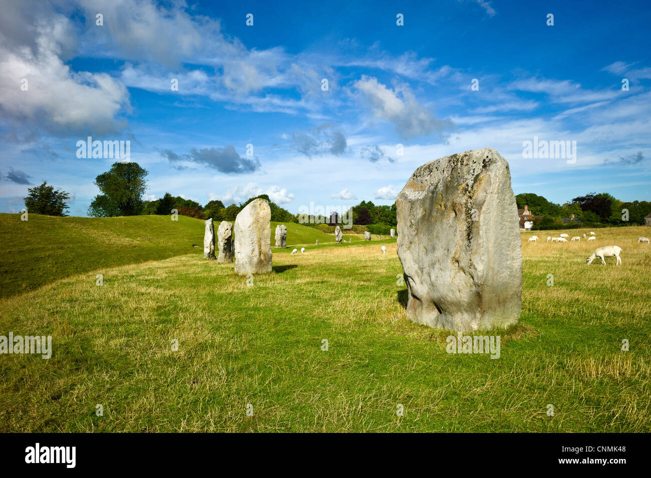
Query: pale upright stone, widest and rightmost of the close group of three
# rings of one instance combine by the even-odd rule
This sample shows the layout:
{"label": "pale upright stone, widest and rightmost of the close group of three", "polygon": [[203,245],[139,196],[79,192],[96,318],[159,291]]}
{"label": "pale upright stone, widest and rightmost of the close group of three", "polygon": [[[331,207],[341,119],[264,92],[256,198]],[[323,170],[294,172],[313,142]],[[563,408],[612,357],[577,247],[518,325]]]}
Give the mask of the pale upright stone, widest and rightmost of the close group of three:
{"label": "pale upright stone, widest and rightmost of the close group of three", "polygon": [[256,199],[235,218],[235,272],[271,272],[271,209]]}

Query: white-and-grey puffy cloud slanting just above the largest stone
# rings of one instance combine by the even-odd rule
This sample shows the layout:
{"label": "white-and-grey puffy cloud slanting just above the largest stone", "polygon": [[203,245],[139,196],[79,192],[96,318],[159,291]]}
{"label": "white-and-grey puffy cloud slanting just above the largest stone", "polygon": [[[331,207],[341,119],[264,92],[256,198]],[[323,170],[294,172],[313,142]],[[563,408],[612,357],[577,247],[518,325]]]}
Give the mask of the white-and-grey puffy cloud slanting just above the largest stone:
{"label": "white-and-grey puffy cloud slanting just above the largest stone", "polygon": [[391,90],[378,82],[378,79],[362,75],[353,86],[370,102],[376,118],[393,123],[403,137],[430,135],[454,126],[450,120],[435,118],[416,100],[407,85],[396,86],[395,90]]}

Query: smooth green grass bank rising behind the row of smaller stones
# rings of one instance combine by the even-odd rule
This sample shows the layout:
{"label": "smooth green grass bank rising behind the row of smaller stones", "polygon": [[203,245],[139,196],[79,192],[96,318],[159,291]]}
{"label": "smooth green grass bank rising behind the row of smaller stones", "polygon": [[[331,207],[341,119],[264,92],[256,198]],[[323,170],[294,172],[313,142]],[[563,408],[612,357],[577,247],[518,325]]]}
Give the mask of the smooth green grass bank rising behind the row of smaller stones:
{"label": "smooth green grass bank rising behind the row of smaller stones", "polygon": [[[280,222],[271,223],[271,244]],[[285,224],[285,223],[283,223]],[[334,242],[334,236],[286,224],[287,245]],[[33,290],[52,280],[102,267],[171,258],[203,250],[204,222],[191,217],[51,217],[0,213],[0,297]],[[346,240],[348,239],[346,235]],[[363,240],[353,235],[353,241]]]}

